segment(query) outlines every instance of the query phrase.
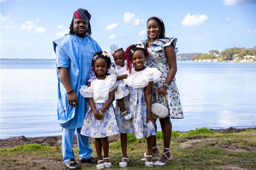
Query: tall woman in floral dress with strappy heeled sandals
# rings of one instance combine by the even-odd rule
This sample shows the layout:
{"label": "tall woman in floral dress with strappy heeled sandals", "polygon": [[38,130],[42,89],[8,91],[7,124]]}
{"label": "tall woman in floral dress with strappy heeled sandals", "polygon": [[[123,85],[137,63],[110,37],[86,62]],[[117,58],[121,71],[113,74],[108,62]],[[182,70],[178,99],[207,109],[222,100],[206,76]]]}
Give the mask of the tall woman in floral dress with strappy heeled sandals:
{"label": "tall woman in floral dress with strappy heeled sandals", "polygon": [[[179,90],[175,81],[177,72],[175,48],[177,38],[166,38],[165,27],[161,18],[151,16],[147,20],[147,39],[143,45],[148,48],[149,57],[146,61],[147,67],[156,67],[161,73],[161,80],[153,84],[152,102],[165,102],[169,109],[169,116],[159,118],[163,133],[164,149],[163,154],[154,165],[165,165],[171,160],[170,142],[172,134],[171,118],[184,118],[180,104]],[[159,96],[158,96],[159,95]],[[155,117],[156,118],[156,117]],[[155,127],[156,129],[156,127]],[[159,150],[156,145],[156,136],[153,145],[153,156],[159,156]]]}

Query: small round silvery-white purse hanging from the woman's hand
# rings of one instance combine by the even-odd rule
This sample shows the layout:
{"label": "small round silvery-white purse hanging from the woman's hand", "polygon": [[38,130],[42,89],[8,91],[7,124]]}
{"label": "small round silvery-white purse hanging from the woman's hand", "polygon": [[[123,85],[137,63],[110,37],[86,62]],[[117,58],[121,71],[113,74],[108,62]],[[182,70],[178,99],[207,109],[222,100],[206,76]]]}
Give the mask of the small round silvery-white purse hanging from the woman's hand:
{"label": "small round silvery-white purse hanging from the woman's hand", "polygon": [[153,103],[151,106],[151,113],[156,117],[156,118],[165,118],[169,115],[169,109],[164,105],[166,104],[165,97],[164,96],[159,96],[159,101],[161,103]]}

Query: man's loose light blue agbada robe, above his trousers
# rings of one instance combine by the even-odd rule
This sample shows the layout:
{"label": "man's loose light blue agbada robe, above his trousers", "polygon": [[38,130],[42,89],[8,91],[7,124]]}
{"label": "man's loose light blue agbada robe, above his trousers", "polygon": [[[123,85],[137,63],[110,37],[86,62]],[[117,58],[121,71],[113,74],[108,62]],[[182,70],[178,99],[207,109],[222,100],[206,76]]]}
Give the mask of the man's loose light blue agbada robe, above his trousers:
{"label": "man's loose light blue agbada robe, above his trousers", "polygon": [[[85,41],[86,40],[86,41]],[[89,79],[90,73],[81,74],[83,70],[90,70],[91,69],[91,57],[90,60],[87,60],[89,64],[82,64],[84,58],[82,58],[82,45],[81,43],[91,43],[94,53],[99,52],[101,50],[98,43],[92,39],[91,36],[87,35],[87,38],[80,38],[75,35],[66,35],[60,39],[53,41],[53,48],[54,52],[56,53],[57,50],[61,55],[67,56],[69,58],[70,63],[67,65],[67,62],[63,60],[59,60],[57,55],[57,67],[67,67],[69,68],[69,76],[70,76],[70,83],[71,86],[74,88],[76,92],[78,105],[83,107],[73,107],[68,104],[66,89],[60,81],[59,72],[57,69],[57,77],[58,77],[58,120],[62,128],[67,129],[76,129],[81,128],[83,125],[83,120],[85,116],[85,108],[87,103],[87,98],[82,97],[79,94],[79,89],[82,85],[87,85],[87,80]],[[79,56],[79,57],[78,57]],[[89,67],[89,68],[88,68]],[[86,76],[87,79],[82,78],[82,76]],[[84,80],[84,81],[81,81]],[[86,81],[85,81],[86,80]]]}

